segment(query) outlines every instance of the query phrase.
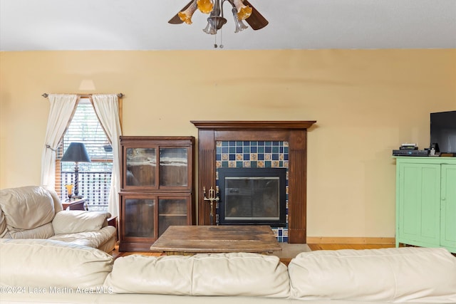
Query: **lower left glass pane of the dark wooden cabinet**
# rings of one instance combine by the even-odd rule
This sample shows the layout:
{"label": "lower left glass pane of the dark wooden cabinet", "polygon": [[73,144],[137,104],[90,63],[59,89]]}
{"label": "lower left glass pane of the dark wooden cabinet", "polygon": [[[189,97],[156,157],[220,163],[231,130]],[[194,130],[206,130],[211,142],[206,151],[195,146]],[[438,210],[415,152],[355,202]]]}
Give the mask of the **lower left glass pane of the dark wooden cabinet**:
{"label": "lower left glass pane of the dark wooden cabinet", "polygon": [[125,198],[124,236],[128,238],[155,237],[155,199]]}

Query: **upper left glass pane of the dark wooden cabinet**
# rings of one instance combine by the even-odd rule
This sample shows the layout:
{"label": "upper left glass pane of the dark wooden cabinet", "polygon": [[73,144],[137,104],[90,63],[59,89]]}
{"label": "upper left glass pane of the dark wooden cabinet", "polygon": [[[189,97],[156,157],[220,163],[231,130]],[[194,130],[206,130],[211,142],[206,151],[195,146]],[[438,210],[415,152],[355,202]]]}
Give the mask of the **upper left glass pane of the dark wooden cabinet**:
{"label": "upper left glass pane of the dark wooden cabinet", "polygon": [[156,187],[157,149],[126,147],[125,187]]}

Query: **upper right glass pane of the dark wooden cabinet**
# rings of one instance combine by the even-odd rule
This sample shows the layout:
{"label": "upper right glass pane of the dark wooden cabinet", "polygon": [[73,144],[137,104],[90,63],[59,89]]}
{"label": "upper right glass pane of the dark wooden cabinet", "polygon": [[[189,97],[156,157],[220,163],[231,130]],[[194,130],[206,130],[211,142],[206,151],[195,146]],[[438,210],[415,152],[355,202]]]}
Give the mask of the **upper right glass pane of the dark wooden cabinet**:
{"label": "upper right glass pane of the dark wooden cabinet", "polygon": [[160,186],[188,186],[188,150],[160,147]]}

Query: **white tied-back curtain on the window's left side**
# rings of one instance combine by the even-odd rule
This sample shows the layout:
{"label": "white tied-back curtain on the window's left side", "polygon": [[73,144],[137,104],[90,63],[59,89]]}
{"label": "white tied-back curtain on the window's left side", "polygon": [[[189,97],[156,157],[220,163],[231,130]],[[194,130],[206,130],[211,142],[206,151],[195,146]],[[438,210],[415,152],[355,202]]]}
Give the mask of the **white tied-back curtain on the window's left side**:
{"label": "white tied-back curtain on the window's left side", "polygon": [[50,94],[48,99],[51,108],[48,126],[46,127],[43,154],[41,155],[41,185],[48,189],[55,189],[56,150],[76,110],[78,95]]}

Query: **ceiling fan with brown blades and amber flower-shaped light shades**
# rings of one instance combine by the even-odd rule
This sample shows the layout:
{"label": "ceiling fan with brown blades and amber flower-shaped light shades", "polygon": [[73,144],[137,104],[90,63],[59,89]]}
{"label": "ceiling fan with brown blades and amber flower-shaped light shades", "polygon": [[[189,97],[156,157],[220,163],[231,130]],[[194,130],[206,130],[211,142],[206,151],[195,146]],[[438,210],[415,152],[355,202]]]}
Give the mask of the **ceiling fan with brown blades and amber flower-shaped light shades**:
{"label": "ceiling fan with brown blades and amber flower-shaped light shades", "polygon": [[175,14],[168,23],[180,24],[185,22],[191,24],[193,13],[199,9],[202,13],[209,14],[207,26],[203,29],[204,33],[214,35],[222,28],[224,23],[227,23],[227,19],[224,19],[223,16],[223,4],[225,1],[232,5],[232,14],[236,24],[235,33],[248,27],[242,22],[243,20],[249,23],[249,26],[252,26],[254,30],[259,30],[268,25],[269,22],[264,16],[261,16],[257,9],[247,0],[192,0],[180,12]]}

